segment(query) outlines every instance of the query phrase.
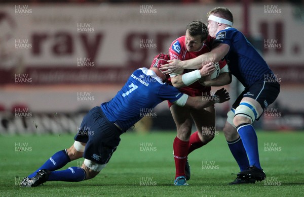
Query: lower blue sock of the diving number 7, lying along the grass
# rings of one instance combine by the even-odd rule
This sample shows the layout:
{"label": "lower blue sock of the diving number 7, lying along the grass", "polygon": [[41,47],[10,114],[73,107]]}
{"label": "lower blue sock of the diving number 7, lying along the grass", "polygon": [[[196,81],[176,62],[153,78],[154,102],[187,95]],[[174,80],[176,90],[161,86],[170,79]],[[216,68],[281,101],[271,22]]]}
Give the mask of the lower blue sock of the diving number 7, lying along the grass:
{"label": "lower blue sock of the diving number 7, lying along the grass", "polygon": [[86,172],[83,168],[69,167],[66,170],[51,172],[48,181],[78,182],[84,180],[85,178]]}

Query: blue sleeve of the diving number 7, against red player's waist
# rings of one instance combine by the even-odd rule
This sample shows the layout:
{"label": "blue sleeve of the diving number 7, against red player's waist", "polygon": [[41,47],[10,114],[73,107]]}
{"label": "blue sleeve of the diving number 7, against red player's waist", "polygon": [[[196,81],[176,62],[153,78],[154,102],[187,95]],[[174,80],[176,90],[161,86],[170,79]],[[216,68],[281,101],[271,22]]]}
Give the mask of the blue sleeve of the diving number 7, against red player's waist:
{"label": "blue sleeve of the diving number 7, against red player's waist", "polygon": [[171,103],[175,102],[182,96],[183,93],[181,93],[177,88],[173,87],[172,85],[169,85],[168,83],[164,83],[160,90],[159,90],[159,97],[165,101],[168,100]]}

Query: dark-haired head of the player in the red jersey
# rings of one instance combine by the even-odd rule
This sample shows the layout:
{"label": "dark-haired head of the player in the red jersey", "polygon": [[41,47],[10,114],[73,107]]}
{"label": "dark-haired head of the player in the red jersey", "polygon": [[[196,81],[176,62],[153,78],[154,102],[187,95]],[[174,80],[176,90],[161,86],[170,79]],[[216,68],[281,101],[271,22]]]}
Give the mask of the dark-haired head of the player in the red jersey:
{"label": "dark-haired head of the player in the red jersey", "polygon": [[188,52],[199,50],[208,36],[208,28],[201,21],[192,21],[186,26],[185,43]]}

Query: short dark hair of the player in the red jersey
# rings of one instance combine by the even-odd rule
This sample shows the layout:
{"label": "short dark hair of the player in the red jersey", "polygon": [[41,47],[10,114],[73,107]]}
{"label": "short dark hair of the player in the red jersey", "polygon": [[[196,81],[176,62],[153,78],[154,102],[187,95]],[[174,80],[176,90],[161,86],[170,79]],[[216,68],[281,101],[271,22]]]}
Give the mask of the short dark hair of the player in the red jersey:
{"label": "short dark hair of the player in the red jersey", "polygon": [[208,36],[208,28],[207,26],[202,23],[201,21],[192,21],[191,23],[187,24],[186,30],[191,36],[201,36],[201,41],[207,39]]}

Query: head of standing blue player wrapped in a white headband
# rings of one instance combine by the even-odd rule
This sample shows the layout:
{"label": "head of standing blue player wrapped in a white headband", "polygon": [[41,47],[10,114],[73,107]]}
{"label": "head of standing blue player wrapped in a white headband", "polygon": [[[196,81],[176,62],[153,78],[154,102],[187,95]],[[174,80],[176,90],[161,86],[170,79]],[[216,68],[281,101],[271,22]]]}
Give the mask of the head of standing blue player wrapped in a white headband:
{"label": "head of standing blue player wrapped in a white headband", "polygon": [[207,17],[208,31],[212,37],[215,37],[218,31],[233,25],[233,15],[228,8],[213,8],[208,12]]}

